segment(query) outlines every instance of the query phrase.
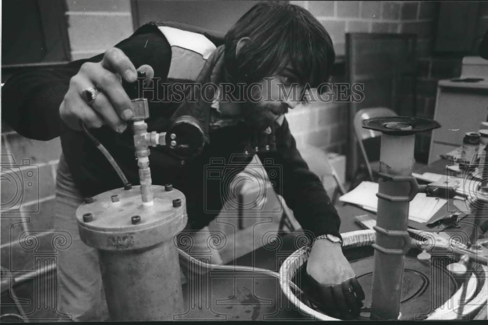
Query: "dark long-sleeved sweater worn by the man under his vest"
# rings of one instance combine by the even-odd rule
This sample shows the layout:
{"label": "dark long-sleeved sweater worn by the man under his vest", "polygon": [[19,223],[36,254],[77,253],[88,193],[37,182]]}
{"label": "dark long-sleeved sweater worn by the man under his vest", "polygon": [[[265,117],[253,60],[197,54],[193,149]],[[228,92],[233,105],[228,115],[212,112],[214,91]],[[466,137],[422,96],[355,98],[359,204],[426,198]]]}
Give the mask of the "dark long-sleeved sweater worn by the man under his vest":
{"label": "dark long-sleeved sweater worn by the man under his vest", "polygon": [[[193,27],[182,28],[199,31]],[[217,46],[221,45],[222,38],[207,33],[205,36]],[[171,48],[156,24],[142,26],[116,47],[131,59],[135,67],[149,64],[154,69],[155,77],[166,81]],[[63,154],[84,196],[122,187],[104,156],[83,133],[67,128],[59,115],[59,106],[68,90],[71,76],[78,72],[82,63],[101,59],[102,54],[73,61],[59,69],[23,72],[7,80],[2,90],[3,119],[19,134],[37,140],[61,136]],[[165,131],[177,107],[174,103],[151,101],[150,118],[146,120],[148,131]],[[128,180],[139,185],[130,127],[123,134],[116,134],[106,126],[92,132],[114,156]],[[190,228],[200,229],[219,214],[222,200],[228,196],[224,195],[224,191],[227,191],[224,183],[229,183],[226,177],[242,171],[252,159],[252,155],[243,154],[242,144],[248,137],[249,130],[242,124],[214,130],[209,134],[209,144],[203,153],[185,161],[169,153],[165,147],[151,148],[149,159],[153,184],[171,183],[183,191]],[[310,230],[316,236],[325,233],[338,236],[340,219],[337,211],[330,203],[320,179],[308,170],[298,152],[286,119],[276,130],[276,146],[275,152],[258,154],[275,191],[283,195],[303,229]],[[226,164],[216,164],[214,158],[224,158]],[[231,159],[233,163],[229,164]],[[223,171],[222,180],[207,177],[208,172],[215,169]]]}

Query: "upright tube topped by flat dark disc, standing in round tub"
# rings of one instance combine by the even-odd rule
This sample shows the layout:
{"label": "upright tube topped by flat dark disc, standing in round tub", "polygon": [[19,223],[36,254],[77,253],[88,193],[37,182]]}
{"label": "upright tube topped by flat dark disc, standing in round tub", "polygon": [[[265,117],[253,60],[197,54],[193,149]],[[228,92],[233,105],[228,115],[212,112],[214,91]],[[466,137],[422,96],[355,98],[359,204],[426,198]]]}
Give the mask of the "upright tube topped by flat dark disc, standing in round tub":
{"label": "upright tube topped by flat dark disc, standing in round tub", "polygon": [[402,297],[409,202],[419,190],[413,178],[415,133],[440,128],[436,121],[408,116],[373,117],[363,128],[382,132],[371,319],[398,319]]}

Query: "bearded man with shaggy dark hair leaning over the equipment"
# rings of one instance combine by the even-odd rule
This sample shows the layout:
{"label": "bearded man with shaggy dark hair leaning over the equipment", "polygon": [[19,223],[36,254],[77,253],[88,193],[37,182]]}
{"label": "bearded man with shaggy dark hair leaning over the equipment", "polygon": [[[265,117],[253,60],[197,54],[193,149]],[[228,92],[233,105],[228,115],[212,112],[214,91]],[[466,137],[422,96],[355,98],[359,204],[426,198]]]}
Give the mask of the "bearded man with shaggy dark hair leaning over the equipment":
{"label": "bearded man with shaggy dark hair leaning over the equipment", "polygon": [[[97,251],[81,242],[75,210],[83,197],[121,184],[81,123],[112,153],[129,181],[139,184],[133,136],[127,131],[133,116],[127,85],[141,71],[149,89],[149,132],[164,132],[183,115],[196,118],[204,131],[206,145],[192,159],[151,149],[153,183],[171,183],[186,196],[187,229],[205,229],[218,214],[205,208],[203,197],[222,203],[222,189],[203,180],[212,157],[271,158],[283,173],[276,191],[314,239],[307,273],[320,288],[320,299],[339,317],[357,316],[364,292],[341,249],[340,218],[321,181],[308,170],[285,119],[288,109],[304,100],[307,87],[328,81],[334,58],[328,33],[307,10],[264,2],[224,38],[178,23],[148,23],[98,56],[12,76],[2,92],[4,119],[26,137],[61,137],[55,228],[70,231],[74,242],[59,256],[60,310],[75,320],[107,319]],[[209,102],[202,92],[174,87],[185,82],[213,83],[218,85],[214,93],[225,96]],[[268,141],[264,148],[253,142],[260,136]]]}

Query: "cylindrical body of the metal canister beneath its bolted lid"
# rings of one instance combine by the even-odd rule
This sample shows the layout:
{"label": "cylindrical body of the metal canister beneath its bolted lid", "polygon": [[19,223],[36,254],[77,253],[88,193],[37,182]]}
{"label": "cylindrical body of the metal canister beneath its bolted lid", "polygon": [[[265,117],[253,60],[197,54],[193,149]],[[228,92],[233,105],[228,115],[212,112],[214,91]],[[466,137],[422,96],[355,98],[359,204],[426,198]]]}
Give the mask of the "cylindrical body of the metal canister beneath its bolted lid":
{"label": "cylindrical body of the metal canister beneath its bolted lid", "polygon": [[111,321],[173,321],[183,311],[172,238],[145,249],[101,249],[100,267]]}

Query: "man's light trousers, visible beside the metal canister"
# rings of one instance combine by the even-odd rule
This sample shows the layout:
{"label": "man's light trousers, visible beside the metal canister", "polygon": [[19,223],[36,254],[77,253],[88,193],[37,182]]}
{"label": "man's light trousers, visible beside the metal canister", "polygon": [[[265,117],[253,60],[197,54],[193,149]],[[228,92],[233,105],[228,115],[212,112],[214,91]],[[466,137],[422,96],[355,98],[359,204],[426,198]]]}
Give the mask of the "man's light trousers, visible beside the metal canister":
{"label": "man's light trousers, visible beside the metal canister", "polygon": [[[83,197],[61,155],[56,176],[54,228],[69,231],[73,244],[66,250],[60,250],[58,256],[58,309],[74,321],[104,321],[109,316],[98,251],[81,241],[75,216],[82,202]],[[208,235],[208,227],[195,232],[194,245],[206,245]],[[212,262],[222,263],[222,260],[220,256],[213,256]]]}

